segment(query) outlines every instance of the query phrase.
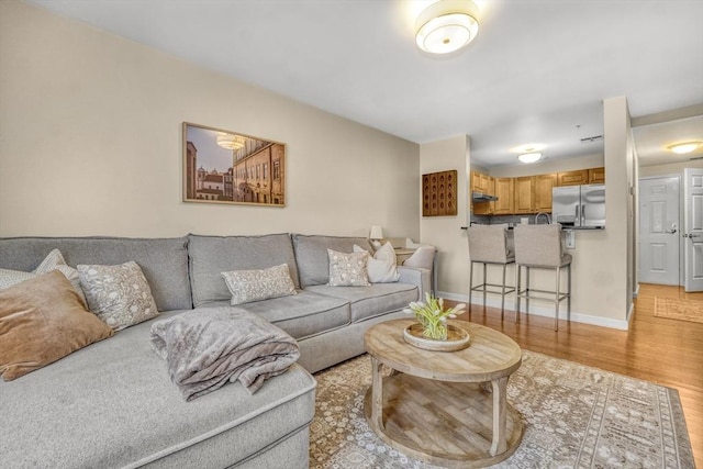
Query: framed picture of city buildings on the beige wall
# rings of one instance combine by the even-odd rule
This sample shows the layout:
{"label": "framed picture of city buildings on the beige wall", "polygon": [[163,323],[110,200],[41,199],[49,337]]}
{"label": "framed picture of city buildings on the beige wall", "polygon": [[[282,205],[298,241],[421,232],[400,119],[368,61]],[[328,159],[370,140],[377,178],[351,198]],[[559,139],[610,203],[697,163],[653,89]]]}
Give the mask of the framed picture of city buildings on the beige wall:
{"label": "framed picture of city buildings on the beige wall", "polygon": [[183,201],[286,205],[286,144],[183,122]]}

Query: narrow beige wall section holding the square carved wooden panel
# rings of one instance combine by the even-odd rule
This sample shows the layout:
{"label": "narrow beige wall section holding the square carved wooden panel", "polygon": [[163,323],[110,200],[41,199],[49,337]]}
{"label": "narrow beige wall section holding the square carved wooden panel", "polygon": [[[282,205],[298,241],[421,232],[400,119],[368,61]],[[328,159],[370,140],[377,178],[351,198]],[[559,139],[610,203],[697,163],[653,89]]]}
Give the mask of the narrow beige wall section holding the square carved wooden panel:
{"label": "narrow beige wall section holding the square carved wooden panel", "polygon": [[[458,135],[420,146],[420,168],[427,172],[456,169],[457,215],[423,216],[420,222],[421,241],[437,248],[437,290],[448,298],[468,293],[468,244],[466,231],[468,220],[469,137]],[[421,199],[417,199],[421,203]]]}

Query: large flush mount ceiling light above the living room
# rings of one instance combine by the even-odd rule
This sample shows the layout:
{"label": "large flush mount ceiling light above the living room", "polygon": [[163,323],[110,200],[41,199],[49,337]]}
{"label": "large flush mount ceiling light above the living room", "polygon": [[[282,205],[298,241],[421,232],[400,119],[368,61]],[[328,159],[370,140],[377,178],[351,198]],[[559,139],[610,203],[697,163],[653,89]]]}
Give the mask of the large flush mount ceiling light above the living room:
{"label": "large flush mount ceiling light above the living room", "polygon": [[448,54],[468,45],[479,33],[478,11],[471,0],[431,4],[417,16],[417,47],[431,54]]}

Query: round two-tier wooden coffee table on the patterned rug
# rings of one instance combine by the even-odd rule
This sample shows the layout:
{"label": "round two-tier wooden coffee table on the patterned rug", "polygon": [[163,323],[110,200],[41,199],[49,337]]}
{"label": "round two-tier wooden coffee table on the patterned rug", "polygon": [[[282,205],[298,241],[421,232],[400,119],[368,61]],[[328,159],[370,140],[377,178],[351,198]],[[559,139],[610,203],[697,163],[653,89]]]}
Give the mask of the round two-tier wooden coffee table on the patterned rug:
{"label": "round two-tier wooden coffee table on the patterned rug", "polygon": [[[469,347],[425,350],[403,338],[414,322],[387,321],[364,336],[372,367],[365,414],[373,432],[409,456],[451,468],[510,457],[523,436],[520,414],[505,399],[507,379],[522,364],[520,346],[489,327],[450,321],[469,333]],[[391,376],[383,377],[383,365]]]}

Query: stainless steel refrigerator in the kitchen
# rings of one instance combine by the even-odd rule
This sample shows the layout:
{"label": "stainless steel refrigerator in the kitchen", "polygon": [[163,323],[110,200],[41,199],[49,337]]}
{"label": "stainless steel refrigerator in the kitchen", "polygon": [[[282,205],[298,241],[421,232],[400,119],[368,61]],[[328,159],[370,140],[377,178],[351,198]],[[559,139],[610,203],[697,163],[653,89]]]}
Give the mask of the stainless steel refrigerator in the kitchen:
{"label": "stainless steel refrigerator in the kitchen", "polygon": [[605,185],[565,186],[551,189],[551,220],[565,227],[605,227]]}

